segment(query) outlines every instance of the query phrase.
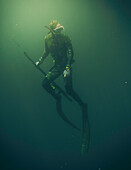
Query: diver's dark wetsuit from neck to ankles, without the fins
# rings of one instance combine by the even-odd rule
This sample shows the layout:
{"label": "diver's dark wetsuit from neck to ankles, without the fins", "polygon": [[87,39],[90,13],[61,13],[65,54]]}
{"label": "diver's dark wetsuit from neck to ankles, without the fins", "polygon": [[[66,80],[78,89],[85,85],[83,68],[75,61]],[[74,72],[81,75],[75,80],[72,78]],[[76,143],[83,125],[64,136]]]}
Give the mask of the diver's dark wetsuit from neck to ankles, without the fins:
{"label": "diver's dark wetsuit from neck to ankles, without the fins", "polygon": [[47,73],[43,80],[42,86],[50,93],[55,99],[58,95],[52,86],[52,81],[63,74],[66,66],[70,67],[70,75],[65,78],[66,92],[72,96],[80,105],[83,104],[80,97],[76,94],[72,87],[72,63],[73,63],[73,48],[70,38],[62,33],[48,34],[45,37],[45,51],[43,56],[39,59],[42,63],[44,59],[51,54],[55,64]]}

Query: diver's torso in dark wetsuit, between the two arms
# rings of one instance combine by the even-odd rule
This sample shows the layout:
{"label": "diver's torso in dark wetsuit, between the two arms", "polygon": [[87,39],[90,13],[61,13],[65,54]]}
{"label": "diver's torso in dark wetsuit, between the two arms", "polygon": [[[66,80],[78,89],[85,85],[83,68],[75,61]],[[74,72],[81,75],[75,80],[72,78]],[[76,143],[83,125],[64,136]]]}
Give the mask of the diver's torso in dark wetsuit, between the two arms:
{"label": "diver's torso in dark wetsuit, between the two arms", "polygon": [[46,38],[49,53],[55,60],[55,64],[66,64],[68,50],[67,36],[59,33],[55,35],[49,34]]}

